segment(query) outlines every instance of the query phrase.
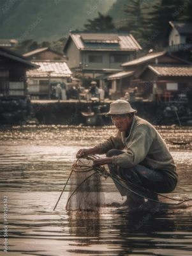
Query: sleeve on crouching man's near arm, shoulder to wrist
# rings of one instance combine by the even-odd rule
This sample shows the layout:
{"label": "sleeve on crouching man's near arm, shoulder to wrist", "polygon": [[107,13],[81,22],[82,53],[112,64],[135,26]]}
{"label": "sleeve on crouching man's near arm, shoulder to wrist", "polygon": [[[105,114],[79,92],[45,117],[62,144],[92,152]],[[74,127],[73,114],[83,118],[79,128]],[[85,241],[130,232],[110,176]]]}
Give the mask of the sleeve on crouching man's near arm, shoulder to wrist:
{"label": "sleeve on crouching man's near arm, shoulder to wrist", "polygon": [[[140,127],[142,128],[142,127]],[[138,129],[133,132],[131,141],[127,145],[127,152],[114,156],[112,163],[121,166],[122,168],[129,168],[142,162],[149,152],[152,144],[152,134],[150,131]]]}

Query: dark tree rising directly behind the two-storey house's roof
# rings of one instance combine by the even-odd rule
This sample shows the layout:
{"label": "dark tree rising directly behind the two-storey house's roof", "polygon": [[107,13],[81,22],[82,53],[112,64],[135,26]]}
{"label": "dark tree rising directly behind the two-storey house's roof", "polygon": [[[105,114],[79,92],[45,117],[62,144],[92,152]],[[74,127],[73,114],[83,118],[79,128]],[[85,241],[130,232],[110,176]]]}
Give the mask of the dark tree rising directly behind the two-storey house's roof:
{"label": "dark tree rising directly behind the two-storey house's roof", "polygon": [[98,17],[88,19],[89,23],[84,24],[85,31],[109,31],[115,28],[110,15],[102,15],[98,12]]}

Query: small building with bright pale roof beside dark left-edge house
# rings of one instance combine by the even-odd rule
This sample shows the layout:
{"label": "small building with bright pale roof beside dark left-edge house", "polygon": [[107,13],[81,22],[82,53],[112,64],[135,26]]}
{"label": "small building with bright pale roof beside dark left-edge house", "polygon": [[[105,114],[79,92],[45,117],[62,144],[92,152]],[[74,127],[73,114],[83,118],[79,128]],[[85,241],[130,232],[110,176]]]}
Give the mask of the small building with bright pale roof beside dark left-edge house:
{"label": "small building with bright pale roof beside dark left-edge house", "polygon": [[39,68],[27,72],[28,92],[32,99],[48,99],[52,86],[71,82],[71,70],[65,61],[33,61]]}

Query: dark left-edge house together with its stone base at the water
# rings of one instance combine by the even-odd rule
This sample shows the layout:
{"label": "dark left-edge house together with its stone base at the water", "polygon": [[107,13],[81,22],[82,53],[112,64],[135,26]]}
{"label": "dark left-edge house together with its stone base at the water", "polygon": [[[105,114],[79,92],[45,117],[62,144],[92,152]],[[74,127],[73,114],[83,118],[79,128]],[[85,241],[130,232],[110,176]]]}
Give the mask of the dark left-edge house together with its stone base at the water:
{"label": "dark left-edge house together with its stone base at the water", "polygon": [[26,72],[37,66],[4,47],[0,47],[0,60],[0,122],[18,124],[31,113]]}

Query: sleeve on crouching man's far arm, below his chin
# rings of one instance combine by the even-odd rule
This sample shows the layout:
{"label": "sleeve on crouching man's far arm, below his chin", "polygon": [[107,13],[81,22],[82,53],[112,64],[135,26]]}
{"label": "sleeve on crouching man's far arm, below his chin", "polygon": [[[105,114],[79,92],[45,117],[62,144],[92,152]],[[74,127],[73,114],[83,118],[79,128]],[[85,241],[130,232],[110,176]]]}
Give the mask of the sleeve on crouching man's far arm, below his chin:
{"label": "sleeve on crouching man's far arm, below his chin", "polygon": [[122,143],[121,132],[117,132],[115,136],[110,136],[107,140],[99,145],[96,145],[99,148],[99,154],[106,154],[108,150],[115,149],[123,149],[125,145]]}

